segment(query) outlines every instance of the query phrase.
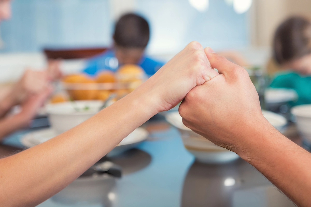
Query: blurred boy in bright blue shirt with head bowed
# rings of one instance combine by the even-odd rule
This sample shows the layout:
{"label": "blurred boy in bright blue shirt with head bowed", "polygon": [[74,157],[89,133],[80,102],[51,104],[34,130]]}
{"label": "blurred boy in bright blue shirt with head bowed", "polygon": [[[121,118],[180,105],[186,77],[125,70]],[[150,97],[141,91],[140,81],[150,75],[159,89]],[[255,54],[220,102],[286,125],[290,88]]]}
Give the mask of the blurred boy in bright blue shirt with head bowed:
{"label": "blurred boy in bright blue shirt with head bowed", "polygon": [[[151,59],[144,54],[149,42],[150,30],[148,22],[136,14],[122,16],[115,25],[113,34],[113,47],[107,52],[91,58],[84,70],[89,75],[96,75],[102,70],[118,69],[118,65],[137,64],[151,76],[159,70],[164,63]],[[118,64],[112,58],[118,60]]]}

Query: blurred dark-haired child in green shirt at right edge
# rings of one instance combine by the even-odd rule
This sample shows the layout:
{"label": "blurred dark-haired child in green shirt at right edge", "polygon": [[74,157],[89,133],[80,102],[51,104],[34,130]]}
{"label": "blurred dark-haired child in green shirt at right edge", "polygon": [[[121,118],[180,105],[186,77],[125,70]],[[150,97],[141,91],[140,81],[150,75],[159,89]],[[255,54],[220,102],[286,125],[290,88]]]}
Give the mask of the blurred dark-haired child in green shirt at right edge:
{"label": "blurred dark-haired child in green shirt at right edge", "polygon": [[311,104],[311,22],[303,17],[285,20],[276,29],[273,56],[283,71],[270,87],[294,89],[298,100],[291,105]]}

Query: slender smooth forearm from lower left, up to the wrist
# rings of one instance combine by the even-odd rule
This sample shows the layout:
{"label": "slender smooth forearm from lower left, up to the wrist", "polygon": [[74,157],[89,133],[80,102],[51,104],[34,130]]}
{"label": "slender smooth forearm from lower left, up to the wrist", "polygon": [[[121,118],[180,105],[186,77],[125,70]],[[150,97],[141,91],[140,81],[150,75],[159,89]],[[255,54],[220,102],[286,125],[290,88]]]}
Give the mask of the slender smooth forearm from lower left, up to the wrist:
{"label": "slender smooth forearm from lower left, up to the wrist", "polygon": [[1,159],[0,203],[34,206],[66,187],[156,114],[138,97],[134,91],[74,129]]}

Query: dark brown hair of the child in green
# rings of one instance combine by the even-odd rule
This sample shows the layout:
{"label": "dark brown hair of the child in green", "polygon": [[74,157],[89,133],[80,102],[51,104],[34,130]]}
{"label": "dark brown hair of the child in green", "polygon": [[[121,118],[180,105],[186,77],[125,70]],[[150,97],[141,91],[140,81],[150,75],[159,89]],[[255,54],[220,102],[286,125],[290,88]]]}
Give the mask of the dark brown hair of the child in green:
{"label": "dark brown hair of the child in green", "polygon": [[311,23],[303,17],[290,17],[277,29],[273,40],[276,62],[283,64],[311,53]]}

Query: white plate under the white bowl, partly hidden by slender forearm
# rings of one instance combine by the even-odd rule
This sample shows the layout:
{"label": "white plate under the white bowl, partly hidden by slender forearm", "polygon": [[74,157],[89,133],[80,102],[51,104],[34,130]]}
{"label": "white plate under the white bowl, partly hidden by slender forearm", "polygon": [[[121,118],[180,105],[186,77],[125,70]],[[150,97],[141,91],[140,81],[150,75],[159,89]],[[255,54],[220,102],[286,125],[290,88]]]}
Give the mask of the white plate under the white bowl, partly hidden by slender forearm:
{"label": "white plate under the white bowl, partly hidden by slender forearm", "polygon": [[[127,148],[126,146],[136,146],[148,137],[149,133],[146,129],[142,127],[138,127],[132,133],[130,133],[127,137],[125,137],[116,148],[122,146],[122,149]],[[53,137],[57,136],[57,133],[52,128],[36,130],[30,133],[25,134],[21,137],[21,143],[26,147],[33,147],[40,143],[43,143]],[[115,148],[115,149],[116,149]]]}

